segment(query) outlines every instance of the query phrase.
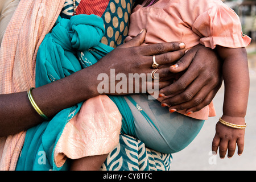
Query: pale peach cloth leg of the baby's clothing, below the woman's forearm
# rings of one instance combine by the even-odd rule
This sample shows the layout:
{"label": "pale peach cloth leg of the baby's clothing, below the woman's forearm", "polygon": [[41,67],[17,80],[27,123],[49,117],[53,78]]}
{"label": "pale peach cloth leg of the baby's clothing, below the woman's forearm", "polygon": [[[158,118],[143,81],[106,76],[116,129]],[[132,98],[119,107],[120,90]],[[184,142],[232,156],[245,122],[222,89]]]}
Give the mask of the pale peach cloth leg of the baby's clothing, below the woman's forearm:
{"label": "pale peach cloth leg of the baby's clothing, below the woman's forearm", "polygon": [[58,140],[54,159],[61,167],[67,158],[110,153],[119,143],[122,115],[106,95],[90,98],[65,125]]}

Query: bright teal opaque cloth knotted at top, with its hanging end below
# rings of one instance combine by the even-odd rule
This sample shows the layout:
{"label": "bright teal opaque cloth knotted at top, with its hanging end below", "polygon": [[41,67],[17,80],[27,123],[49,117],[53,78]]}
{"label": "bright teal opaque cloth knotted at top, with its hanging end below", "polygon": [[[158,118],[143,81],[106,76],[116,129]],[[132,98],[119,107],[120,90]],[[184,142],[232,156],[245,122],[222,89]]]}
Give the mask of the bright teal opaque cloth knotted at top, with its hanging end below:
{"label": "bright teal opaque cloth knotted at top, with its hanging end below", "polygon": [[[46,35],[39,47],[36,60],[36,87],[88,67],[112,51],[112,47],[100,43],[104,34],[104,23],[96,15],[76,15],[70,20],[59,17],[52,32]],[[76,56],[78,51],[82,51],[90,63],[81,64]],[[123,119],[129,121],[123,126],[122,132],[134,135],[133,115],[126,101],[123,97],[110,98],[119,106]],[[82,102],[64,109],[51,121],[28,129],[16,170],[68,169],[68,163],[63,167],[56,167],[53,150],[65,124],[79,111],[81,105]],[[43,155],[46,155],[46,160]]]}

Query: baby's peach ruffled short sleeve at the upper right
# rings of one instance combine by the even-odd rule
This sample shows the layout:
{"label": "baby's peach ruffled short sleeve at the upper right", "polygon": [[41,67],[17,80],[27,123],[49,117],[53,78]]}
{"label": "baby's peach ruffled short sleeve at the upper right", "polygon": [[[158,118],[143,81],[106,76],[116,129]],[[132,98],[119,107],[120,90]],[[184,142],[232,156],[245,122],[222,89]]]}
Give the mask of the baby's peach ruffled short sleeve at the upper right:
{"label": "baby's peach ruffled short sleeve at the upper right", "polygon": [[212,49],[216,45],[246,47],[251,42],[249,36],[243,36],[239,16],[222,2],[209,3],[208,10],[195,19],[192,30],[201,37],[201,44]]}

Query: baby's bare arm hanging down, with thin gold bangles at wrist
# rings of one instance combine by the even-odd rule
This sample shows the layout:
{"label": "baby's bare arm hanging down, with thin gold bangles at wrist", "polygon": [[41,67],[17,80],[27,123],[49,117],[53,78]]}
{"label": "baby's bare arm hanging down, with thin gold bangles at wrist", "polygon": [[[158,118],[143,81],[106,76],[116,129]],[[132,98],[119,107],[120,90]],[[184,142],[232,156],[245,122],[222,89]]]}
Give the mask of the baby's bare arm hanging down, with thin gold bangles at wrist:
{"label": "baby's bare arm hanging down, with thin gold bangles at wrist", "polygon": [[[218,54],[224,60],[223,78],[225,96],[222,119],[236,125],[245,125],[245,114],[249,95],[249,70],[245,48],[216,47]],[[219,148],[220,158],[224,158],[228,149],[228,157],[234,155],[236,143],[238,155],[242,154],[244,146],[244,129],[234,129],[216,125],[216,135],[213,139],[212,150],[217,153]]]}

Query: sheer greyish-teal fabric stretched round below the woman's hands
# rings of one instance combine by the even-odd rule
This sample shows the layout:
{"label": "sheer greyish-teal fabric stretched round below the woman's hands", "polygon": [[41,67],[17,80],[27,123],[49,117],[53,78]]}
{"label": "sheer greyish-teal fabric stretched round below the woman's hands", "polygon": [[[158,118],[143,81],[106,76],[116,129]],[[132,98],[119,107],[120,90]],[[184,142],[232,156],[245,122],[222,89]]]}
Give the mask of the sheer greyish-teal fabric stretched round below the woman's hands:
{"label": "sheer greyish-teal fabric stretched round below the woman's hands", "polygon": [[[160,106],[157,100],[148,100],[146,94],[134,94],[125,97],[134,115],[135,135],[148,148],[173,154],[188,146],[203,127],[204,120],[194,119],[179,113],[170,113],[167,107]],[[140,110],[151,119],[149,122]]]}

